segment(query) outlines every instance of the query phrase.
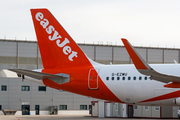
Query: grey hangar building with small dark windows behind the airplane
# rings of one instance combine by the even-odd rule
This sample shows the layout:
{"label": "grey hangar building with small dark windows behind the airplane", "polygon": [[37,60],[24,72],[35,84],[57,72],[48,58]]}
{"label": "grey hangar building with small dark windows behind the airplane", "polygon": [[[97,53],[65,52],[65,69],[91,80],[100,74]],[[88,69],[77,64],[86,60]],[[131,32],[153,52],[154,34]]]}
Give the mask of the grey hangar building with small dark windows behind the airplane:
{"label": "grey hangar building with small dark windows behind the airplane", "polygon": [[[98,44],[79,44],[79,46],[92,60],[102,64],[132,63],[124,46]],[[136,47],[136,50],[148,63],[173,63],[173,60],[180,62],[180,49]],[[0,70],[10,68],[32,70],[42,67],[37,42],[0,40]],[[30,81],[22,82],[20,78],[0,77],[0,87],[0,110],[17,109],[16,115],[89,114],[91,101],[98,101]]]}

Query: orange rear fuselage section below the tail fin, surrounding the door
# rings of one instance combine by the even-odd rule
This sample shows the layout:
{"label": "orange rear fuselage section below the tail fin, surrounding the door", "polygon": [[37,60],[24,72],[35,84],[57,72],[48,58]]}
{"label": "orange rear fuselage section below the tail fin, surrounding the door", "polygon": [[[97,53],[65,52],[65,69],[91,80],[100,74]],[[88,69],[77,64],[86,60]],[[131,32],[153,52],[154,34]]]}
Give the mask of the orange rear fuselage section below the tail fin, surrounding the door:
{"label": "orange rear fuselage section below the tail fin, surrounding the door", "polygon": [[[89,90],[88,89],[89,69],[90,68],[71,68],[71,69],[64,69],[64,70],[56,69],[56,71],[52,71],[51,69],[43,70],[43,72],[45,72],[45,73],[53,72],[52,74],[65,73],[65,74],[70,75],[70,82],[68,82],[68,83],[58,84],[49,79],[43,79],[43,83],[46,86],[49,86],[51,88],[62,89],[62,90],[68,91],[68,92],[73,92],[73,93],[85,95],[88,97],[91,96],[93,98],[122,103],[122,101],[119,100],[109,90],[109,88],[104,84],[104,82],[101,80],[101,78],[99,76],[98,76],[98,88],[99,89],[98,90]],[[95,86],[95,85],[93,85],[93,86]]]}

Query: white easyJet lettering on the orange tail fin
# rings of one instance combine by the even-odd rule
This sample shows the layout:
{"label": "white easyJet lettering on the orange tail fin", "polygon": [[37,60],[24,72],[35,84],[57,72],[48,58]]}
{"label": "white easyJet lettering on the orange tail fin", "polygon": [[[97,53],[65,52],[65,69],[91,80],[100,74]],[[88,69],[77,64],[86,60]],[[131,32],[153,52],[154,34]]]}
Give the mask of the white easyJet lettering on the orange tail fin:
{"label": "white easyJet lettering on the orange tail fin", "polygon": [[40,25],[45,29],[46,33],[49,34],[48,39],[51,41],[56,40],[57,46],[62,48],[63,53],[68,55],[70,61],[73,61],[73,58],[77,57],[77,52],[72,51],[71,47],[67,46],[67,44],[70,43],[69,40],[65,38],[64,41],[61,42],[61,35],[59,35],[54,26],[49,25],[49,21],[44,18],[44,15],[41,12],[38,12],[35,17],[36,20],[40,22]]}

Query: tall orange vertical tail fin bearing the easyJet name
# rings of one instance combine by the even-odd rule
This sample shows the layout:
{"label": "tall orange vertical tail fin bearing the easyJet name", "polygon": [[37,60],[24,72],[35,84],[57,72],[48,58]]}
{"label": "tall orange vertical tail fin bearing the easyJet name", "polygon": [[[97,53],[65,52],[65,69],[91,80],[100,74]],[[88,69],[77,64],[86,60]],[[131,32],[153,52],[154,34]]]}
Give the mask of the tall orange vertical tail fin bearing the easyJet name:
{"label": "tall orange vertical tail fin bearing the easyJet name", "polygon": [[44,68],[91,65],[48,9],[31,9],[31,14]]}

